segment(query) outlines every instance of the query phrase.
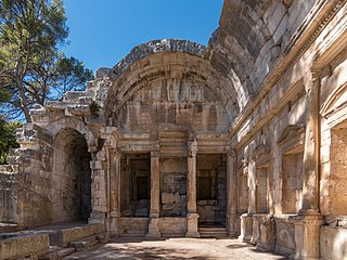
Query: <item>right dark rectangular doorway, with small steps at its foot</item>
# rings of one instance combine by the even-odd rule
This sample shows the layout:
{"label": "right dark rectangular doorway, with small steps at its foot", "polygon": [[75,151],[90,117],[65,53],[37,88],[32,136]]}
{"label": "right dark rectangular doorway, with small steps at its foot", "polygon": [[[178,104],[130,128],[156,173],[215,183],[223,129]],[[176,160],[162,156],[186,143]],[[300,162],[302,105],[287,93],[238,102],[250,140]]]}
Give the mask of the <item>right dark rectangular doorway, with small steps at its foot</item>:
{"label": "right dark rectangular doorway, with small steps at its foot", "polygon": [[224,154],[197,154],[196,206],[198,223],[226,225],[227,162]]}

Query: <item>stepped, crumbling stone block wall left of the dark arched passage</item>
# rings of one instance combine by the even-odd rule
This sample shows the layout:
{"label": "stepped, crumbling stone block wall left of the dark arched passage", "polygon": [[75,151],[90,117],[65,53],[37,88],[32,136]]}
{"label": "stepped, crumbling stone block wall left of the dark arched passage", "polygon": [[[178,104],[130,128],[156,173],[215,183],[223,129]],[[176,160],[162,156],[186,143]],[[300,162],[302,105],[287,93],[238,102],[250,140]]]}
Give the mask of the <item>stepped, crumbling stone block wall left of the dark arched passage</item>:
{"label": "stepped, crumbling stone block wall left of the dark arched passage", "polygon": [[[10,214],[1,222],[17,224],[18,229],[50,223],[52,203],[49,191],[52,187],[52,138],[35,125],[25,125],[18,132],[21,148],[10,152],[11,171],[1,173],[7,180],[1,190],[2,205],[11,205]],[[8,191],[11,191],[9,194]]]}

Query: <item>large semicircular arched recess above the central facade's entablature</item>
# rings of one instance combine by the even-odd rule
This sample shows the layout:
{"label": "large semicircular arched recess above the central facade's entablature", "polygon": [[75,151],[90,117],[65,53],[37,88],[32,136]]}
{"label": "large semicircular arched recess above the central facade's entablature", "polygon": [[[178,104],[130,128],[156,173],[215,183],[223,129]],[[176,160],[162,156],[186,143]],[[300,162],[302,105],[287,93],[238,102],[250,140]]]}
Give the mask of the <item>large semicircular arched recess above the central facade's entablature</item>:
{"label": "large semicircular arched recess above the central facade's entablature", "polygon": [[[150,126],[164,122],[197,132],[227,132],[239,114],[230,83],[201,56],[156,53],[134,62],[110,87],[105,120],[120,129],[133,129],[130,125],[134,118],[137,126],[144,126],[141,119],[147,118]],[[210,116],[217,120],[215,126],[204,122]],[[198,120],[205,126],[195,128]]]}

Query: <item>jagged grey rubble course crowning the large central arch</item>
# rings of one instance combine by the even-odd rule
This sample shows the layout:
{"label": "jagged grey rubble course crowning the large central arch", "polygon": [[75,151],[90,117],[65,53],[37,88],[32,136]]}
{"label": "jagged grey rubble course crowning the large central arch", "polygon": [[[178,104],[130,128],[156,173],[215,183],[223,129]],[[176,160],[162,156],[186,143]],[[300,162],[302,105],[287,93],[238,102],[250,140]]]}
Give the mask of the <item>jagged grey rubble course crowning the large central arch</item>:
{"label": "jagged grey rubble course crowning the large central arch", "polygon": [[118,62],[113,68],[100,68],[97,70],[97,78],[110,77],[116,80],[125,69],[130,67],[137,61],[146,56],[164,52],[185,52],[192,55],[204,57],[207,54],[207,48],[203,44],[189,40],[163,39],[153,40],[133,48],[130,53]]}

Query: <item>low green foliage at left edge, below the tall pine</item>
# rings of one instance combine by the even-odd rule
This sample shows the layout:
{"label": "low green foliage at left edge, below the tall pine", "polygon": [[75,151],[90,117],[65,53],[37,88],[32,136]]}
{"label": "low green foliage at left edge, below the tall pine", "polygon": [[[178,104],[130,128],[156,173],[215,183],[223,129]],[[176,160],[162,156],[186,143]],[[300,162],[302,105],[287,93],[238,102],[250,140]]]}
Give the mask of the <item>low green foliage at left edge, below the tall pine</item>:
{"label": "low green foliage at left edge, below the tall pine", "polygon": [[16,130],[22,127],[21,122],[7,122],[0,118],[0,165],[7,164],[10,148],[17,148],[20,144],[16,139]]}

